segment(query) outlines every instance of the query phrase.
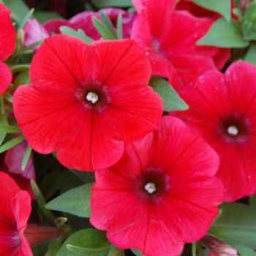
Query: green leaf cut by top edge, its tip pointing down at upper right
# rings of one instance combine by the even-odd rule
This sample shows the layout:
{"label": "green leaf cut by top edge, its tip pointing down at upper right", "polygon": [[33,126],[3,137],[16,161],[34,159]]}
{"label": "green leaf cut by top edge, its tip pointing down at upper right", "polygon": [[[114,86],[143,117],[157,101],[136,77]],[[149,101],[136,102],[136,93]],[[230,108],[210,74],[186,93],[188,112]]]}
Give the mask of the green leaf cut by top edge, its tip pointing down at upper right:
{"label": "green leaf cut by top edge, its tip pointing down at upper right", "polygon": [[222,15],[226,20],[230,21],[231,19],[231,4],[230,0],[192,0],[200,7],[206,8],[207,10],[211,10]]}

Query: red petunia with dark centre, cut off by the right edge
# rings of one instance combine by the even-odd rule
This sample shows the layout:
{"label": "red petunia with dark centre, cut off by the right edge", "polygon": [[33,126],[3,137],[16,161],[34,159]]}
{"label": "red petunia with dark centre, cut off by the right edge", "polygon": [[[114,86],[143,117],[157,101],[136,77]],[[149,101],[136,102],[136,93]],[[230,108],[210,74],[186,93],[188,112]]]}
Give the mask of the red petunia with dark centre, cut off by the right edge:
{"label": "red petunia with dark centre, cut off by the right edge", "polygon": [[209,71],[179,91],[189,110],[176,112],[220,158],[227,202],[256,192],[256,67],[238,61],[225,75]]}

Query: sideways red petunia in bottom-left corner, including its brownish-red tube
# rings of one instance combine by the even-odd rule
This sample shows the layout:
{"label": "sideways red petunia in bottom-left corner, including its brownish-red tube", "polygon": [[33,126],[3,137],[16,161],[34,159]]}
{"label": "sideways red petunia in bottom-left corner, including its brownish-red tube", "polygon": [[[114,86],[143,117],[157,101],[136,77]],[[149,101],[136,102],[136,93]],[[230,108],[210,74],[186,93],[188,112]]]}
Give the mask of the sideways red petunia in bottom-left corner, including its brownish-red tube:
{"label": "sideways red petunia in bottom-left corner, including its brownish-red tube", "polygon": [[31,246],[63,233],[59,227],[28,224],[31,198],[15,181],[0,172],[0,255],[33,256]]}

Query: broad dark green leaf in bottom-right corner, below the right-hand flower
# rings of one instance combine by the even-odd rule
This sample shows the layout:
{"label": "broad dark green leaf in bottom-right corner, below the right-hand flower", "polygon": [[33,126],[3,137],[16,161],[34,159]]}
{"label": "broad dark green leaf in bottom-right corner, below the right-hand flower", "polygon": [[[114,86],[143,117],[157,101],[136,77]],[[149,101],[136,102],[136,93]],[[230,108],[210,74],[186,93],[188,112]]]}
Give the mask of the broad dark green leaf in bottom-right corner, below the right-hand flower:
{"label": "broad dark green leaf in bottom-right corner, below the right-hand flower", "polygon": [[256,249],[256,209],[242,203],[223,203],[222,215],[208,231],[232,246]]}

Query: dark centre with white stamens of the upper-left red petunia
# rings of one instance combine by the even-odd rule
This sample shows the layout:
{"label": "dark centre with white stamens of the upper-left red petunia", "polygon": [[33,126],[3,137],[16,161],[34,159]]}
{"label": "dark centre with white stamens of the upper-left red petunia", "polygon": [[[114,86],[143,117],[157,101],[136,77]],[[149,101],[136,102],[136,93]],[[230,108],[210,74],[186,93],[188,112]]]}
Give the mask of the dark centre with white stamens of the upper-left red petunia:
{"label": "dark centre with white stamens of the upper-left red petunia", "polygon": [[78,90],[78,99],[87,108],[101,112],[110,102],[108,91],[105,86],[88,85]]}

